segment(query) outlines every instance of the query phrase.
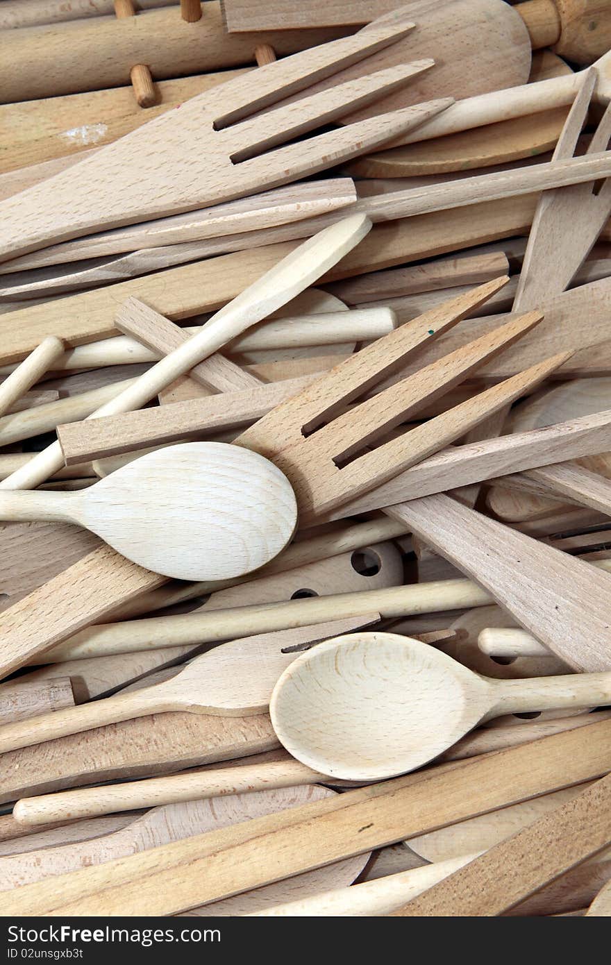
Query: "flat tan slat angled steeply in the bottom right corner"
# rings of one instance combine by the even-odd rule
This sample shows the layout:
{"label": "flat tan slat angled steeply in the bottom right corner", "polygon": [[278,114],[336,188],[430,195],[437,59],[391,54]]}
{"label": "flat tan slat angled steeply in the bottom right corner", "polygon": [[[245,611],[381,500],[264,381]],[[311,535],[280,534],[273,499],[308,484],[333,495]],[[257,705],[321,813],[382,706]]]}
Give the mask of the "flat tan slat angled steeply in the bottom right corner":
{"label": "flat tan slat angled steeply in the bottom right corner", "polygon": [[509,911],[608,845],[610,793],[607,775],[393,914],[489,917]]}

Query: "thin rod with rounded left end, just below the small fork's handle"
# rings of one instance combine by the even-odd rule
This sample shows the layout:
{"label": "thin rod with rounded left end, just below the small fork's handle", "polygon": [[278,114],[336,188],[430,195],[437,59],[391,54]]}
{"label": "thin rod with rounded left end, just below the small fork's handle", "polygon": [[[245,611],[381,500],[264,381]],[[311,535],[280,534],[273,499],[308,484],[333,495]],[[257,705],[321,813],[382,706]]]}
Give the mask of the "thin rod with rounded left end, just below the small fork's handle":
{"label": "thin rod with rounded left end, just below the small fork's handle", "polygon": [[161,804],[177,804],[220,794],[315,784],[322,780],[328,781],[328,778],[286,755],[282,760],[262,764],[243,764],[240,767],[222,767],[149,778],[146,781],[24,797],[15,804],[14,817],[22,824],[47,824],[55,820],[154,808]]}

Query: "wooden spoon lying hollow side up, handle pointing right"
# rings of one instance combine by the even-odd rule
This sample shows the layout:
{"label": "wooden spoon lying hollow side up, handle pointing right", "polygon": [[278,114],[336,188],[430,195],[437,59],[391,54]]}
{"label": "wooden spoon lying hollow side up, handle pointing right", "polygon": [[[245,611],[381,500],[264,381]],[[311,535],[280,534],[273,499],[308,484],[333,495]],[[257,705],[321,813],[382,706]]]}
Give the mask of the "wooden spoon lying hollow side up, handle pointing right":
{"label": "wooden spoon lying hollow side up, handle pointing right", "polygon": [[295,660],[269,712],[297,760],[376,781],[421,767],[491,717],[597,703],[611,703],[609,674],[492,680],[419,641],[358,633]]}

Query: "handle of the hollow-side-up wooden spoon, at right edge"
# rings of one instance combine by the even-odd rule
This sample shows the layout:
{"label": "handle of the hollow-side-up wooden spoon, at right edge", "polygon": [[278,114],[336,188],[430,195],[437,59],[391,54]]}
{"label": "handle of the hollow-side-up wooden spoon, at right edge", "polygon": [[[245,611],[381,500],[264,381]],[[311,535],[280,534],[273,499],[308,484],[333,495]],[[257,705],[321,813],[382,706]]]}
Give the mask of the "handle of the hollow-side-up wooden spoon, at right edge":
{"label": "handle of the hollow-side-up wooden spoon, at right edge", "polygon": [[611,673],[494,680],[497,698],[486,719],[530,710],[598,707],[611,703]]}

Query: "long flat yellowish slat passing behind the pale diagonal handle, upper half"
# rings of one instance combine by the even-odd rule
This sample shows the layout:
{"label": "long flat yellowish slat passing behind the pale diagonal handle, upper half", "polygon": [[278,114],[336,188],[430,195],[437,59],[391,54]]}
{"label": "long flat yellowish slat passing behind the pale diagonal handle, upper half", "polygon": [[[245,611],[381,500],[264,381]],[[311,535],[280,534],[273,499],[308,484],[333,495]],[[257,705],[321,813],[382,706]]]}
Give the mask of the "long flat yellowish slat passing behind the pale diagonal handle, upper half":
{"label": "long flat yellowish slat passing behind the pale diagonal handle, upper half", "polygon": [[[527,195],[376,225],[370,237],[342,259],[325,281],[420,260],[493,238],[511,237],[528,230],[535,205],[536,198]],[[311,225],[302,230],[311,233],[314,229]],[[70,295],[61,310],[60,301],[16,310],[11,313],[11,324],[8,318],[0,324],[0,362],[4,365],[20,361],[47,335],[55,334],[72,346],[116,335],[117,305],[130,296],[136,296],[174,320],[217,309],[260,278],[297,244],[289,241],[251,249],[250,237],[245,251],[169,268],[139,281]],[[567,315],[572,317],[575,312],[583,311],[595,319],[594,307],[591,302],[583,307],[575,305],[574,310],[571,306]],[[550,307],[545,308],[549,313]]]}

